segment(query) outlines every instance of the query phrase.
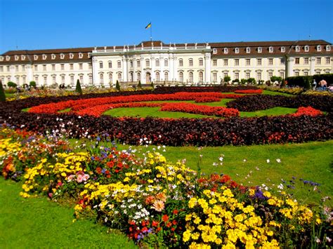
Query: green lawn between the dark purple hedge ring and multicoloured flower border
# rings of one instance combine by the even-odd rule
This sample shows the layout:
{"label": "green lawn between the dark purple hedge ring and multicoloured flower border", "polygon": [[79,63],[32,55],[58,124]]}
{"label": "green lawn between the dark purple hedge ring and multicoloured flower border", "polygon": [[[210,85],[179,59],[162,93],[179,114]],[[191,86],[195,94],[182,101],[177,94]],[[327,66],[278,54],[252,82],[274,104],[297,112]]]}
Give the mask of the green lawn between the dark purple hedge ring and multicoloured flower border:
{"label": "green lawn between the dark purple hedge ring and multicoloured flower border", "polygon": [[[119,144],[119,149],[127,149],[129,145]],[[318,203],[322,195],[330,195],[333,192],[333,140],[327,142],[308,142],[303,144],[270,144],[252,146],[226,146],[226,147],[163,147],[156,146],[133,147],[140,152],[161,152],[169,161],[176,162],[186,159],[186,165],[197,170],[200,162],[202,173],[227,174],[233,180],[246,184],[266,184],[273,189],[285,180],[289,183],[292,177],[303,178],[321,184],[322,193],[314,192],[313,187],[308,191],[300,180],[292,192],[301,201]],[[202,157],[200,157],[202,155]],[[223,156],[223,165],[218,158]],[[267,159],[270,160],[267,163]],[[281,162],[276,161],[280,159]],[[213,163],[218,163],[214,166]],[[274,184],[274,185],[273,185]],[[285,185],[287,185],[285,184]],[[331,205],[332,206],[332,205]]]}

